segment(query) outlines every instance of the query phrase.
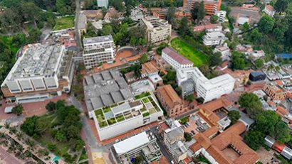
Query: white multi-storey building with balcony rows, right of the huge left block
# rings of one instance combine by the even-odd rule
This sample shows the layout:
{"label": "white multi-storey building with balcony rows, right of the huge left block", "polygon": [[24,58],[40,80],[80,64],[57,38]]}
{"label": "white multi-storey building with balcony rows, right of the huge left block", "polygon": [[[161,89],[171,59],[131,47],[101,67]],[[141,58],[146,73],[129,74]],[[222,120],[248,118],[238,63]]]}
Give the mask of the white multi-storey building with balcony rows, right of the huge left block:
{"label": "white multi-storey building with balcony rows, right of the huge left block", "polygon": [[113,62],[115,55],[112,35],[83,39],[83,61],[86,69],[98,67],[102,62]]}

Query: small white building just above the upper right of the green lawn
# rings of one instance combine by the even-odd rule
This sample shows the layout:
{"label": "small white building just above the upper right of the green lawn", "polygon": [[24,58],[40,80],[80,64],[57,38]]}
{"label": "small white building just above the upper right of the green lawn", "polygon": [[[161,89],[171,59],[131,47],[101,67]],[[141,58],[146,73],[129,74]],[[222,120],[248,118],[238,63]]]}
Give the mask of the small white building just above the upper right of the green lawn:
{"label": "small white building just above the upper right of the green lawn", "polygon": [[203,38],[204,45],[222,45],[226,37],[220,31],[206,33]]}

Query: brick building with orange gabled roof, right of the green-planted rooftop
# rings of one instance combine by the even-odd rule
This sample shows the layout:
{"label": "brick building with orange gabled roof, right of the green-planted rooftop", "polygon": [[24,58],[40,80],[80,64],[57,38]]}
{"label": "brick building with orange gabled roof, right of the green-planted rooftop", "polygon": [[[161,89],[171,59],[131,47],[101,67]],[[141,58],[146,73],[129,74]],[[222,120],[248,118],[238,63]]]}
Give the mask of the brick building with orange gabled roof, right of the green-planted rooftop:
{"label": "brick building with orange gabled roof, right of the green-planted rooftop", "polygon": [[187,111],[184,102],[170,84],[157,88],[157,97],[167,111],[168,116],[178,116]]}

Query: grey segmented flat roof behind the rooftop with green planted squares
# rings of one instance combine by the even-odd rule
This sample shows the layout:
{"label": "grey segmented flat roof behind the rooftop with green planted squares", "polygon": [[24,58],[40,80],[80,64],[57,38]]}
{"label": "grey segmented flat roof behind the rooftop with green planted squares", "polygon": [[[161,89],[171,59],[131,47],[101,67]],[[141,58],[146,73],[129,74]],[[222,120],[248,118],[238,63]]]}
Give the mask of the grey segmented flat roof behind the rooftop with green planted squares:
{"label": "grey segmented flat roof behind the rooftop with green planted squares", "polygon": [[130,87],[118,70],[85,76],[83,86],[88,111],[133,98]]}

